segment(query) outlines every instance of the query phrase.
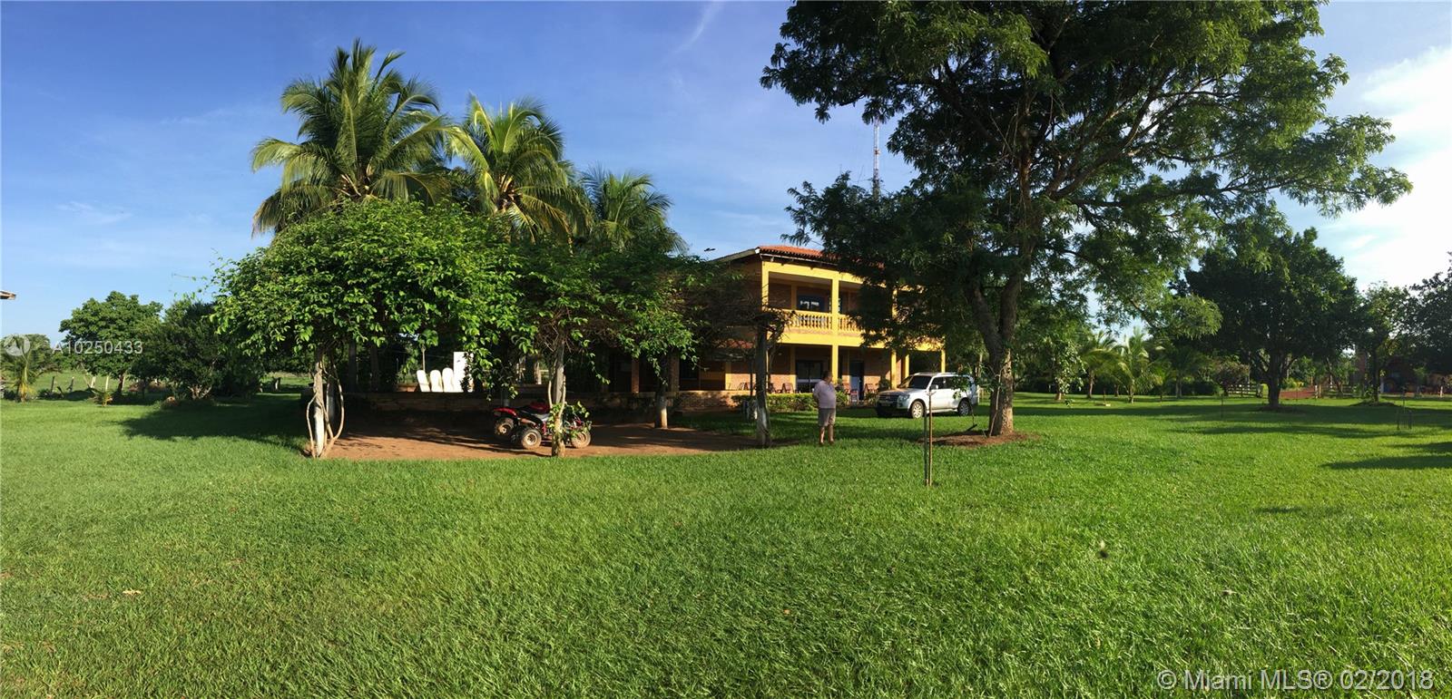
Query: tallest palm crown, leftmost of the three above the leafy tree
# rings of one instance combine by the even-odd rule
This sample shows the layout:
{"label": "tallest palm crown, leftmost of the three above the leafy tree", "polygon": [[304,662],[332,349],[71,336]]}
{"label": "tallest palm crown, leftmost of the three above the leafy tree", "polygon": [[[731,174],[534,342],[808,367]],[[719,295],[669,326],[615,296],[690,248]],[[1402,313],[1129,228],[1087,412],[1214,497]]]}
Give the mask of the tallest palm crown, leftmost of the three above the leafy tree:
{"label": "tallest palm crown, leftmost of the three above the leafy tree", "polygon": [[373,46],[354,41],[351,51],[338,48],[327,80],[296,80],[283,90],[283,112],[302,119],[301,139],[266,138],[253,148],[253,171],[282,167],[282,186],[253,215],[253,235],[340,202],[446,194],[449,122],[439,99],[428,84],[389,68],[402,52],[376,68],[373,55]]}

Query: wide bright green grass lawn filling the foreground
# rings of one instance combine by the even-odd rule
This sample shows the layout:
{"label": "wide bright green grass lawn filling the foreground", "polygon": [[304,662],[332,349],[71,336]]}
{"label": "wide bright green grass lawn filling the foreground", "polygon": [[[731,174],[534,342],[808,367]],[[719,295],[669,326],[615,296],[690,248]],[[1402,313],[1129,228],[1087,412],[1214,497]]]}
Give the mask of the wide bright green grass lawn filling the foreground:
{"label": "wide bright green grass lawn filling the foreground", "polygon": [[833,448],[800,413],[770,451],[314,463],[290,394],[6,403],[0,695],[1452,690],[1452,400],[1411,432],[1349,402],[1018,403],[1037,438],[939,448],[934,489],[918,425],[865,412]]}

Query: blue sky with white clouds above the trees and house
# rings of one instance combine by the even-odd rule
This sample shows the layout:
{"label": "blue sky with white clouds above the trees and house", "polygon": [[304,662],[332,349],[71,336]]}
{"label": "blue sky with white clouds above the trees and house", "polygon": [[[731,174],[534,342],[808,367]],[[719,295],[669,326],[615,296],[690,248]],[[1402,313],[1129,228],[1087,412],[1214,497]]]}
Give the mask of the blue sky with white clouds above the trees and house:
{"label": "blue sky with white clouds above the trees and house", "polygon": [[[279,173],[251,173],[263,136],[292,138],[282,87],[354,36],[402,49],[446,110],[533,96],[576,164],[643,170],[697,251],[778,242],[786,189],[865,177],[871,129],[819,123],[759,87],[780,3],[4,3],[0,6],[0,332],[45,332],[110,290],[170,302],[261,241],[253,209]],[[1294,210],[1359,280],[1446,268],[1452,226],[1452,3],[1323,9],[1320,52],[1352,83],[1333,110],[1391,117],[1381,158],[1416,191],[1337,220]],[[886,133],[883,135],[886,141]],[[910,171],[890,154],[884,183]]]}

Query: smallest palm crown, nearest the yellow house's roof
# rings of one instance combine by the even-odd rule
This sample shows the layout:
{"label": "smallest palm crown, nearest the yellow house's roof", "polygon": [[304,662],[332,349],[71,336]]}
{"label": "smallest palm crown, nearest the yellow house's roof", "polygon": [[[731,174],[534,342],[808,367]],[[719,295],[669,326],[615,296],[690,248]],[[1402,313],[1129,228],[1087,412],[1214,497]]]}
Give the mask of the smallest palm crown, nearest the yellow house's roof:
{"label": "smallest palm crown, nearest the yellow house's roof", "polygon": [[581,242],[610,249],[646,247],[685,252],[685,241],[665,220],[671,197],[655,189],[650,175],[595,168],[581,178],[581,187],[590,206]]}

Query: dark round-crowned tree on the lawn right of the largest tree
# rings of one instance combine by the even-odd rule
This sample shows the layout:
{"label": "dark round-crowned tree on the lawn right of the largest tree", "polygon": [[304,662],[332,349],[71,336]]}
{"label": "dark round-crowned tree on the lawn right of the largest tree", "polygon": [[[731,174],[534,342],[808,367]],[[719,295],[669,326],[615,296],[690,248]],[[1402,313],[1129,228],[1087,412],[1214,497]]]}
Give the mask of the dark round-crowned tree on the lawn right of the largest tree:
{"label": "dark round-crowned tree on the lawn right of the largest tree", "polygon": [[1281,406],[1281,384],[1297,357],[1324,360],[1352,345],[1361,318],[1355,281],[1316,244],[1262,210],[1227,226],[1221,245],[1185,273],[1189,291],[1220,307],[1208,347],[1250,364]]}

